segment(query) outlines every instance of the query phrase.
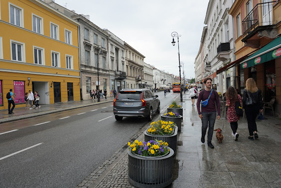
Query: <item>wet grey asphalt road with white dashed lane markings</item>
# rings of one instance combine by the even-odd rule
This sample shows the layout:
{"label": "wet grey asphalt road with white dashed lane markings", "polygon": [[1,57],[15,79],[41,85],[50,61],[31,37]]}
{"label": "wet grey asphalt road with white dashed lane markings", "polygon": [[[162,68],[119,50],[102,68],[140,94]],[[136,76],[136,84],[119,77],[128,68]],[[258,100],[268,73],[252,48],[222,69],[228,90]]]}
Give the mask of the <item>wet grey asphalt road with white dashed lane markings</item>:
{"label": "wet grey asphalt road with white dashed lane markings", "polygon": [[[156,94],[161,110],[179,95]],[[0,124],[18,129],[0,135],[0,188],[75,188],[147,124],[141,118],[116,121],[112,105]]]}

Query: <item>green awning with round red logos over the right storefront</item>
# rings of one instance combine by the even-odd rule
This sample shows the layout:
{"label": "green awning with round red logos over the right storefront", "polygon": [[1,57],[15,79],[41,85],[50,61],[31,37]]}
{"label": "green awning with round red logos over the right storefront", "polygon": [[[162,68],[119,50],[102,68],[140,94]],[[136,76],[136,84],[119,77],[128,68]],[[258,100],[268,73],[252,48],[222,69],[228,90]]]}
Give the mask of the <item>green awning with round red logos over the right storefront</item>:
{"label": "green awning with round red logos over the right storefront", "polygon": [[242,61],[240,63],[240,68],[249,68],[278,57],[281,57],[281,36],[265,45],[262,49],[252,54],[246,60]]}

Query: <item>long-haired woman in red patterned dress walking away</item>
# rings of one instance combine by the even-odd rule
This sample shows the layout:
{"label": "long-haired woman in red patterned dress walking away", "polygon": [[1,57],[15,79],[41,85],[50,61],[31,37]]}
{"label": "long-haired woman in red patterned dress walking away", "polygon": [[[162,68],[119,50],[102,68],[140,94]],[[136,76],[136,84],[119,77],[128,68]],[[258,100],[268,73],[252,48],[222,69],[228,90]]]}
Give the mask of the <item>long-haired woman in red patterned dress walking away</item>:
{"label": "long-haired woman in red patterned dress walking away", "polygon": [[232,129],[232,136],[234,137],[234,140],[237,141],[239,134],[237,133],[238,129],[238,120],[240,119],[240,116],[236,114],[235,110],[235,102],[239,101],[239,103],[242,106],[242,98],[240,95],[237,94],[237,91],[234,89],[234,87],[230,86],[226,93],[226,105],[228,107],[227,109],[227,121],[230,123],[230,127]]}

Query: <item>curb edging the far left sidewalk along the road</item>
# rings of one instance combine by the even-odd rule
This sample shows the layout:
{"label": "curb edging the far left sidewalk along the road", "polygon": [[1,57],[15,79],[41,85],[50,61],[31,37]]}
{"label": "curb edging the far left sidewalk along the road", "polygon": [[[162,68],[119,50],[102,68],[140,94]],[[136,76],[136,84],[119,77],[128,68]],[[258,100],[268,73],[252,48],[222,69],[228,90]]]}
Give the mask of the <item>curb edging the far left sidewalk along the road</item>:
{"label": "curb edging the far left sidewalk along the road", "polygon": [[57,113],[57,112],[63,112],[63,111],[67,111],[67,110],[73,110],[73,109],[77,109],[77,108],[83,108],[83,107],[88,107],[88,106],[93,106],[93,105],[98,105],[98,104],[109,103],[109,102],[113,102],[113,100],[103,101],[103,102],[94,103],[94,104],[91,104],[91,103],[90,104],[84,104],[84,105],[80,105],[80,106],[68,107],[68,108],[58,109],[58,110],[50,110],[50,111],[45,111],[45,112],[38,112],[38,113],[35,113],[35,114],[21,115],[21,116],[14,117],[14,119],[12,119],[12,118],[3,118],[3,119],[0,119],[0,124],[1,123],[12,122],[12,121],[17,121],[17,120],[28,119],[28,118],[34,118],[34,117],[37,117],[37,116],[43,116],[43,115],[53,114],[53,113]]}

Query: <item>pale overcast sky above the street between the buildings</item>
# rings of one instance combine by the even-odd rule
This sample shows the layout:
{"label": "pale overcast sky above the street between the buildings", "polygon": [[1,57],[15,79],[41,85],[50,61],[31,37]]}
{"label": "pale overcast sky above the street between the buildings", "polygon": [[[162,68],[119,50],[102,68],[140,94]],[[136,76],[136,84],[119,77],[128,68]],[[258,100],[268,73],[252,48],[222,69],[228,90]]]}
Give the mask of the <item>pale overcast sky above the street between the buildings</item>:
{"label": "pale overcast sky above the street between the buildings", "polygon": [[[178,43],[172,46],[171,33],[179,35],[180,62],[185,78],[195,77],[208,0],[55,0],[90,21],[108,29],[142,55],[144,62],[159,70],[179,75]],[[181,67],[181,73],[182,73]],[[181,75],[183,76],[183,75]]]}

